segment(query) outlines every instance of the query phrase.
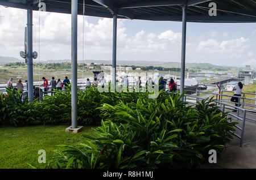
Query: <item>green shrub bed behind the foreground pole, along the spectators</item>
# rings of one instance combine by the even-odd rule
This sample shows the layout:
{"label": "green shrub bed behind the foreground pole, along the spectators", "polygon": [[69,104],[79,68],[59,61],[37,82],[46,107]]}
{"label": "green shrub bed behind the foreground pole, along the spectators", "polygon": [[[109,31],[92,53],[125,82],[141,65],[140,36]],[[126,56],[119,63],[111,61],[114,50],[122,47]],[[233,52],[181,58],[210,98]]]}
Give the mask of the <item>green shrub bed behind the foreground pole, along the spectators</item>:
{"label": "green shrub bed behind the foreground pole, along the spectators", "polygon": [[[71,123],[71,87],[65,91],[55,90],[54,96],[46,95],[41,103],[38,99],[29,104],[22,101],[22,94],[15,89],[7,88],[7,94],[1,93],[0,125],[24,126],[38,121],[42,124]],[[146,97],[147,93],[114,93],[102,92],[97,88],[88,87],[85,91],[78,91],[77,121],[79,125],[100,125],[100,110],[103,103],[110,105],[122,102],[136,102],[139,97]]]}

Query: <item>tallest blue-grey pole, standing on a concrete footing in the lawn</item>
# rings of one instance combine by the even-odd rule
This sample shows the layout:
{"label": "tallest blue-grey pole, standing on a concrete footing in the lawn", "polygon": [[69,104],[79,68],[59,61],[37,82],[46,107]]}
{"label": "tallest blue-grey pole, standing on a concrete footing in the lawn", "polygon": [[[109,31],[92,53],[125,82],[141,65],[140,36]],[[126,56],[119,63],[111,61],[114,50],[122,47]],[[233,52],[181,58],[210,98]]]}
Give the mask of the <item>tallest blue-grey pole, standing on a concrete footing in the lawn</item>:
{"label": "tallest blue-grey pole, standing on a concrete footing in the lawn", "polygon": [[71,114],[72,128],[77,128],[77,0],[71,8]]}

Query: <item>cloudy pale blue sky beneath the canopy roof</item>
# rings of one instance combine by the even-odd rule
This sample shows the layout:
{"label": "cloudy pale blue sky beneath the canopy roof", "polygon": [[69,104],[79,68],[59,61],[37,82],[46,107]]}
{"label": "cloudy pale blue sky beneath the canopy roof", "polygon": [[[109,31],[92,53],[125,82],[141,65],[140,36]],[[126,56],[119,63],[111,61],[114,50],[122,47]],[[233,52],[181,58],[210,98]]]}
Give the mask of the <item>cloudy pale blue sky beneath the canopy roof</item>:
{"label": "cloudy pale blue sky beneath the canopy roof", "polygon": [[[27,11],[0,6],[0,56],[24,50]],[[33,14],[33,50],[39,52],[39,12]],[[82,24],[78,18],[78,59],[82,60]],[[84,18],[84,59],[112,59],[113,20]],[[181,23],[118,20],[117,61],[180,62]],[[256,65],[256,23],[187,23],[186,62]],[[40,61],[71,59],[71,15],[40,12]],[[254,65],[254,66],[255,66]]]}

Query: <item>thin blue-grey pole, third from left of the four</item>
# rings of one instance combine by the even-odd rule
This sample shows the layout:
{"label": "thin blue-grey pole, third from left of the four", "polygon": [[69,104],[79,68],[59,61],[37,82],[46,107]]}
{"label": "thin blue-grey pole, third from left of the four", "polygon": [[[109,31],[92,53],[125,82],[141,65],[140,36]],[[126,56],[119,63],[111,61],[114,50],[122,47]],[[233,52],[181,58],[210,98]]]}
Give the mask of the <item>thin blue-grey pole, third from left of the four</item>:
{"label": "thin blue-grey pole, third from left of the four", "polygon": [[117,71],[117,15],[113,15],[113,54],[112,54],[112,82],[115,85]]}

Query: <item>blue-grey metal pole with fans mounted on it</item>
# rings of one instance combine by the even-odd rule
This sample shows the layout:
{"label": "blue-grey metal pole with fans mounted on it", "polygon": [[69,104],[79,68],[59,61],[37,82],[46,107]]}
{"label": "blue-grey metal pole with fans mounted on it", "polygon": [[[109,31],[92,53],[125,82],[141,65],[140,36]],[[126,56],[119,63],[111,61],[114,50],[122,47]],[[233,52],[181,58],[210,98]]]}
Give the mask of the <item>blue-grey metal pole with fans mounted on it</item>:
{"label": "blue-grey metal pole with fans mounted on it", "polygon": [[33,11],[31,7],[27,9],[27,88],[28,88],[28,100],[32,102],[34,100],[33,93],[33,41],[32,41],[32,15]]}

